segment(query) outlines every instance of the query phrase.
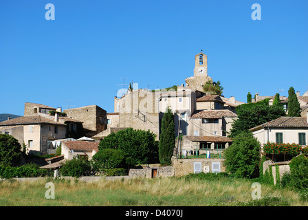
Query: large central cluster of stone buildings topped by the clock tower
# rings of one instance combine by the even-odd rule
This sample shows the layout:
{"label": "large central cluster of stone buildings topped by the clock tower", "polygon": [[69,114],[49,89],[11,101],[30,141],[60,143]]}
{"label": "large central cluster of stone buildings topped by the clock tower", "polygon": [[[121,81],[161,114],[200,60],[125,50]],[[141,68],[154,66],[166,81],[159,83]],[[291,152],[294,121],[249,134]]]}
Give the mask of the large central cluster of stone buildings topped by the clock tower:
{"label": "large central cluster of stone buildings topped by the clock tower", "polygon": [[[209,80],[212,82],[208,76],[207,56],[199,53],[195,56],[194,76],[185,79],[186,87],[178,85],[177,91],[128,90],[121,98],[115,96],[114,113],[107,115],[112,114],[112,121],[118,122],[112,124],[113,127],[149,130],[158,140],[162,117],[170,107],[175,113],[175,137],[183,135],[179,144],[181,150],[224,149],[232,143],[226,135],[237,118],[235,107],[244,102],[203,92],[203,85]],[[102,139],[109,133],[102,131],[96,137]]]}

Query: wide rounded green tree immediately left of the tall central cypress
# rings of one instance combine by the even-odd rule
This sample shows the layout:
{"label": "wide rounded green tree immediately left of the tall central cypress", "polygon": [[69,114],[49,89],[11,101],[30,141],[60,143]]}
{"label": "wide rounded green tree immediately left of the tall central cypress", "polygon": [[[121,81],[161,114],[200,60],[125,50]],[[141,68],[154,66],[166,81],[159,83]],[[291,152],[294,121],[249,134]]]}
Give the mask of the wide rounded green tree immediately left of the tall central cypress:
{"label": "wide rounded green tree immediately left of the tall central cypress", "polygon": [[155,134],[150,131],[135,130],[132,128],[111,133],[98,144],[99,150],[113,148],[122,150],[129,164],[156,163],[158,161],[158,142]]}

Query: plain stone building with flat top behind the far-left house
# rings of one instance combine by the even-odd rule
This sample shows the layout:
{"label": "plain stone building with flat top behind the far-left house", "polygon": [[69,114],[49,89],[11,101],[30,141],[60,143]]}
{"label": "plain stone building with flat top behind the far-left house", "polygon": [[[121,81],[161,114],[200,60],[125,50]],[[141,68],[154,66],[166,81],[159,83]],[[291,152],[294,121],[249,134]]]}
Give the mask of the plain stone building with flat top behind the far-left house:
{"label": "plain stone building with flat top behind the far-left house", "polygon": [[97,105],[65,109],[63,112],[67,113],[68,118],[73,118],[83,122],[85,135],[89,137],[96,135],[107,128],[107,112]]}

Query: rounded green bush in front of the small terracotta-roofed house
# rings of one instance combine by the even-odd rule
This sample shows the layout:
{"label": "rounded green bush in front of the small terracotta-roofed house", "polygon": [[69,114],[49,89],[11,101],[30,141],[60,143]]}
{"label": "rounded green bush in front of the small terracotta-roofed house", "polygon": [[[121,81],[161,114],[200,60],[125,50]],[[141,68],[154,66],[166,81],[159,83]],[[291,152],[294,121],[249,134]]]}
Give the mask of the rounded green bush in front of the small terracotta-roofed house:
{"label": "rounded green bush in front of the small terracotta-roofed house", "polygon": [[60,175],[70,177],[88,176],[92,174],[92,165],[87,159],[73,157],[73,159],[63,164],[59,169],[59,173]]}

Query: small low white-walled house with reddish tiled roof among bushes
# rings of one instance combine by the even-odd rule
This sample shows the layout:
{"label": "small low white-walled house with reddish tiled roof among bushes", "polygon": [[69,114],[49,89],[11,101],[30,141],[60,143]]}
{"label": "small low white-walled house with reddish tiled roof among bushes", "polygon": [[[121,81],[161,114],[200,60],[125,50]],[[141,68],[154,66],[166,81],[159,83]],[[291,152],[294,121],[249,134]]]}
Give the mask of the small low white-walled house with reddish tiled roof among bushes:
{"label": "small low white-walled house with reddish tiled roof among bushes", "polygon": [[63,141],[61,144],[61,153],[67,160],[73,159],[75,156],[92,159],[98,152],[98,144],[99,142]]}

